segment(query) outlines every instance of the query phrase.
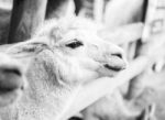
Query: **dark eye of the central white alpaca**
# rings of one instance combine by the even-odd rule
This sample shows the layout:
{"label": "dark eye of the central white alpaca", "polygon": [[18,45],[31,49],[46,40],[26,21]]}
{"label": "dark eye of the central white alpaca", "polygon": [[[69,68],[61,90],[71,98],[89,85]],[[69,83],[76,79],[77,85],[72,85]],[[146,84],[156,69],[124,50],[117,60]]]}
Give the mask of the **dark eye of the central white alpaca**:
{"label": "dark eye of the central white alpaca", "polygon": [[70,43],[66,44],[67,47],[70,47],[70,48],[76,48],[76,47],[79,47],[79,46],[82,46],[84,44],[78,41],[77,39],[74,39]]}

